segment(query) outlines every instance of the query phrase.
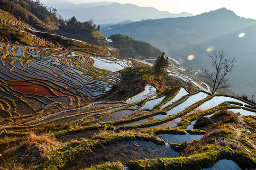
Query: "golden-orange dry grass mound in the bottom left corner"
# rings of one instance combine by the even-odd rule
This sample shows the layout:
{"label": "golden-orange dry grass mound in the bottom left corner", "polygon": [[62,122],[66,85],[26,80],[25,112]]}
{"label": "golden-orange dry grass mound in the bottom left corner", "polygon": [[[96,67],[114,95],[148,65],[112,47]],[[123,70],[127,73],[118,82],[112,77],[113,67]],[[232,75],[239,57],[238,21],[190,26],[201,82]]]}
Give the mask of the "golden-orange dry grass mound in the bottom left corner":
{"label": "golden-orange dry grass mound in the bottom left corner", "polygon": [[48,160],[47,155],[55,153],[62,145],[52,136],[30,132],[16,147],[3,152],[2,166],[6,170],[22,170],[21,165],[26,165],[25,169],[35,167],[38,162]]}

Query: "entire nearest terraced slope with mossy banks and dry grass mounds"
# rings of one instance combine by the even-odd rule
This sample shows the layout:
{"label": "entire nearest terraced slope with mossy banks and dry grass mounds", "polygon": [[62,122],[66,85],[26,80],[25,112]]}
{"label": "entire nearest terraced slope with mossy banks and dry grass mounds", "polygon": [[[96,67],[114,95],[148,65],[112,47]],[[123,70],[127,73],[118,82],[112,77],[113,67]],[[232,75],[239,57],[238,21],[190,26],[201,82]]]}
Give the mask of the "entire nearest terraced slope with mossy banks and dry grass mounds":
{"label": "entire nearest terraced slope with mossy banks and dry grass mounds", "polygon": [[94,102],[37,119],[2,119],[0,168],[256,168],[255,105],[234,96],[189,93],[182,86],[156,91],[146,85],[125,102]]}

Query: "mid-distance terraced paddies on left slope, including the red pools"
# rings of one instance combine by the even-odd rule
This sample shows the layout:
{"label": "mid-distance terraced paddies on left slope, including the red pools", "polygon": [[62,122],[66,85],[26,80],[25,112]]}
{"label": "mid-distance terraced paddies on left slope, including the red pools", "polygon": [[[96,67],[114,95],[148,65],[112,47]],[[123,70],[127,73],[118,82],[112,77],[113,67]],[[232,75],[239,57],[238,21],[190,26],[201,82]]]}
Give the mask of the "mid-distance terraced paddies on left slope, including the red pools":
{"label": "mid-distance terraced paddies on left slope, including the red pools", "polygon": [[[55,102],[67,106],[83,105],[106,93],[120,81],[119,73],[95,68],[95,61],[89,54],[85,56],[64,48],[14,46],[1,42],[0,87],[9,97],[13,96],[34,112]],[[12,56],[6,53],[9,50],[13,51]],[[102,62],[107,63],[108,59],[102,58]],[[115,59],[111,59],[111,62],[115,62]],[[131,66],[127,60],[118,60],[116,64],[121,69]],[[20,114],[21,110],[17,110],[15,102],[9,97],[6,94],[0,96],[1,100],[7,98],[13,102],[1,102],[3,110],[9,114]],[[24,100],[27,97],[35,98],[33,106],[32,102]]]}

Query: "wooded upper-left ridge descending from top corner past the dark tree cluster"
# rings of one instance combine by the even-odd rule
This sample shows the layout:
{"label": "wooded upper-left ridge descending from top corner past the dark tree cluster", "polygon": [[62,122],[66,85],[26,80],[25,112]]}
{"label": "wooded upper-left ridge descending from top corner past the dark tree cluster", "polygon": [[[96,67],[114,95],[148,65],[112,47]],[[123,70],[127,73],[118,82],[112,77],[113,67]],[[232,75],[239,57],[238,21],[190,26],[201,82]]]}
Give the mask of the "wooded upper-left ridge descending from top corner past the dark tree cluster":
{"label": "wooded upper-left ridge descending from top corner past the dark tree cluster", "polygon": [[93,26],[93,22],[81,23],[75,19],[72,26],[70,26],[68,21],[58,19],[56,13],[48,11],[40,1],[2,0],[0,4],[0,9],[44,32],[104,45],[105,37]]}

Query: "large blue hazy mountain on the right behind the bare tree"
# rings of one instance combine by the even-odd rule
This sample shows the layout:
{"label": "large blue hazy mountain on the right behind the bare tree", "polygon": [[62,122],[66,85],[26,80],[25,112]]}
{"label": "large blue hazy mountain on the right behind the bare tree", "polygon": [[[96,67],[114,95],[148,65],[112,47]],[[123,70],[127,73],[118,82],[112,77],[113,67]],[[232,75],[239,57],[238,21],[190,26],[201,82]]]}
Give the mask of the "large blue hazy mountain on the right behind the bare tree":
{"label": "large blue hazy mountain on the right behind the bare tree", "polygon": [[[236,72],[230,76],[238,93],[256,95],[256,20],[238,17],[233,11],[221,8],[194,17],[144,20],[101,29],[102,34],[124,34],[145,41],[166,56],[183,61],[186,68],[211,67],[207,51],[223,49],[234,57]],[[238,37],[245,33],[244,37]],[[209,48],[210,47],[210,48]],[[206,51],[207,50],[207,51]],[[189,55],[195,58],[188,60]]]}

